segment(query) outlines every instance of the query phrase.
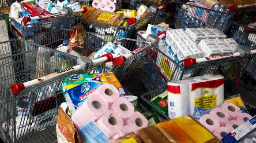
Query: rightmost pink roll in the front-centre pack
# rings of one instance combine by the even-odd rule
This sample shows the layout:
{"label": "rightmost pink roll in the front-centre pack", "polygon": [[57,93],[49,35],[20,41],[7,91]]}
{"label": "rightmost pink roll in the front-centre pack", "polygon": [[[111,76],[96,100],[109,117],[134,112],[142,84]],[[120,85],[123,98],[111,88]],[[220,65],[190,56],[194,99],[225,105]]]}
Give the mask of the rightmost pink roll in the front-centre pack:
{"label": "rightmost pink roll in the front-centre pack", "polygon": [[146,128],[147,127],[147,119],[144,117],[141,113],[138,111],[134,112],[132,116],[124,121],[124,125],[129,125],[131,126],[134,130],[139,130],[141,128]]}

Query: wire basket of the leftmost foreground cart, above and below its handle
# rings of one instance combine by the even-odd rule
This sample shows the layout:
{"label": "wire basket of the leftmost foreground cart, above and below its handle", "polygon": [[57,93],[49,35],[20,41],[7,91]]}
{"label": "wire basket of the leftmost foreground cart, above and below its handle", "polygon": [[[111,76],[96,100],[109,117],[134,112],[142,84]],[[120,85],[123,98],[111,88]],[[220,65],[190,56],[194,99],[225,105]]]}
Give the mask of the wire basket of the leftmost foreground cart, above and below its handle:
{"label": "wire basket of the leftmost foreground cart, above and below its handle", "polygon": [[[60,71],[61,68],[53,65],[51,60],[55,52],[61,52],[23,39],[2,42],[0,48],[6,51],[0,57],[0,132],[3,140],[11,143],[55,124],[57,107],[63,100],[57,94],[60,80],[38,84],[18,95],[12,95],[9,86]],[[76,64],[74,56],[61,54],[63,61],[69,61],[69,64],[62,65],[63,68]]]}

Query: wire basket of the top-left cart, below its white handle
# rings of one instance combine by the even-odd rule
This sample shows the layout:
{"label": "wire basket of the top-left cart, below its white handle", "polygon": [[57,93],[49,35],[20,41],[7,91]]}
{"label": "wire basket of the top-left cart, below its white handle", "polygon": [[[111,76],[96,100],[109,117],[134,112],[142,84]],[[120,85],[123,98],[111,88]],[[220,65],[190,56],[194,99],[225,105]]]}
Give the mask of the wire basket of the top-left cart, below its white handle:
{"label": "wire basket of the top-left cart, below its white handle", "polygon": [[38,21],[36,23],[23,25],[17,19],[12,19],[8,15],[0,12],[0,18],[7,23],[8,31],[11,31],[17,38],[31,39],[40,33],[60,28],[71,28],[81,21],[81,15],[59,16]]}

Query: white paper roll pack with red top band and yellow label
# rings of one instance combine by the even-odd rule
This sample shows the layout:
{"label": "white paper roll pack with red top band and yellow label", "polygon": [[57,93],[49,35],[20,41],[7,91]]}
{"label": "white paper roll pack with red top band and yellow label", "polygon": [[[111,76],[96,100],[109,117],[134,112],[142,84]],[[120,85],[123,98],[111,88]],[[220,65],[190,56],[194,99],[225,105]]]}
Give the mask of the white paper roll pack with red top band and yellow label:
{"label": "white paper roll pack with red top band and yellow label", "polygon": [[168,116],[172,119],[193,115],[195,107],[209,109],[224,102],[224,77],[221,75],[190,77],[169,82],[167,86]]}

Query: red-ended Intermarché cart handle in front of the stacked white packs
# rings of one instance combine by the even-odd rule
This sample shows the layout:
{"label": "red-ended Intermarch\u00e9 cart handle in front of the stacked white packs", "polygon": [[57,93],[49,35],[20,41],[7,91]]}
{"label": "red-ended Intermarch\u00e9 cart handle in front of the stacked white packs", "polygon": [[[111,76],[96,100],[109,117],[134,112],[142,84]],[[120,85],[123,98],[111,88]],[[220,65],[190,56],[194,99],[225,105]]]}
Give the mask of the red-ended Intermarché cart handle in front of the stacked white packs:
{"label": "red-ended Intermarch\u00e9 cart handle in front of the stacked white packs", "polygon": [[[256,54],[256,50],[251,50],[250,54]],[[199,62],[208,62],[208,61],[214,61],[218,59],[225,59],[225,58],[238,57],[238,56],[242,56],[242,54],[239,52],[235,52],[235,53],[222,54],[222,55],[213,55],[211,57],[205,57],[205,58],[199,58],[199,59],[187,58],[183,60],[183,63],[184,63],[184,66],[193,66],[194,64]]]}

